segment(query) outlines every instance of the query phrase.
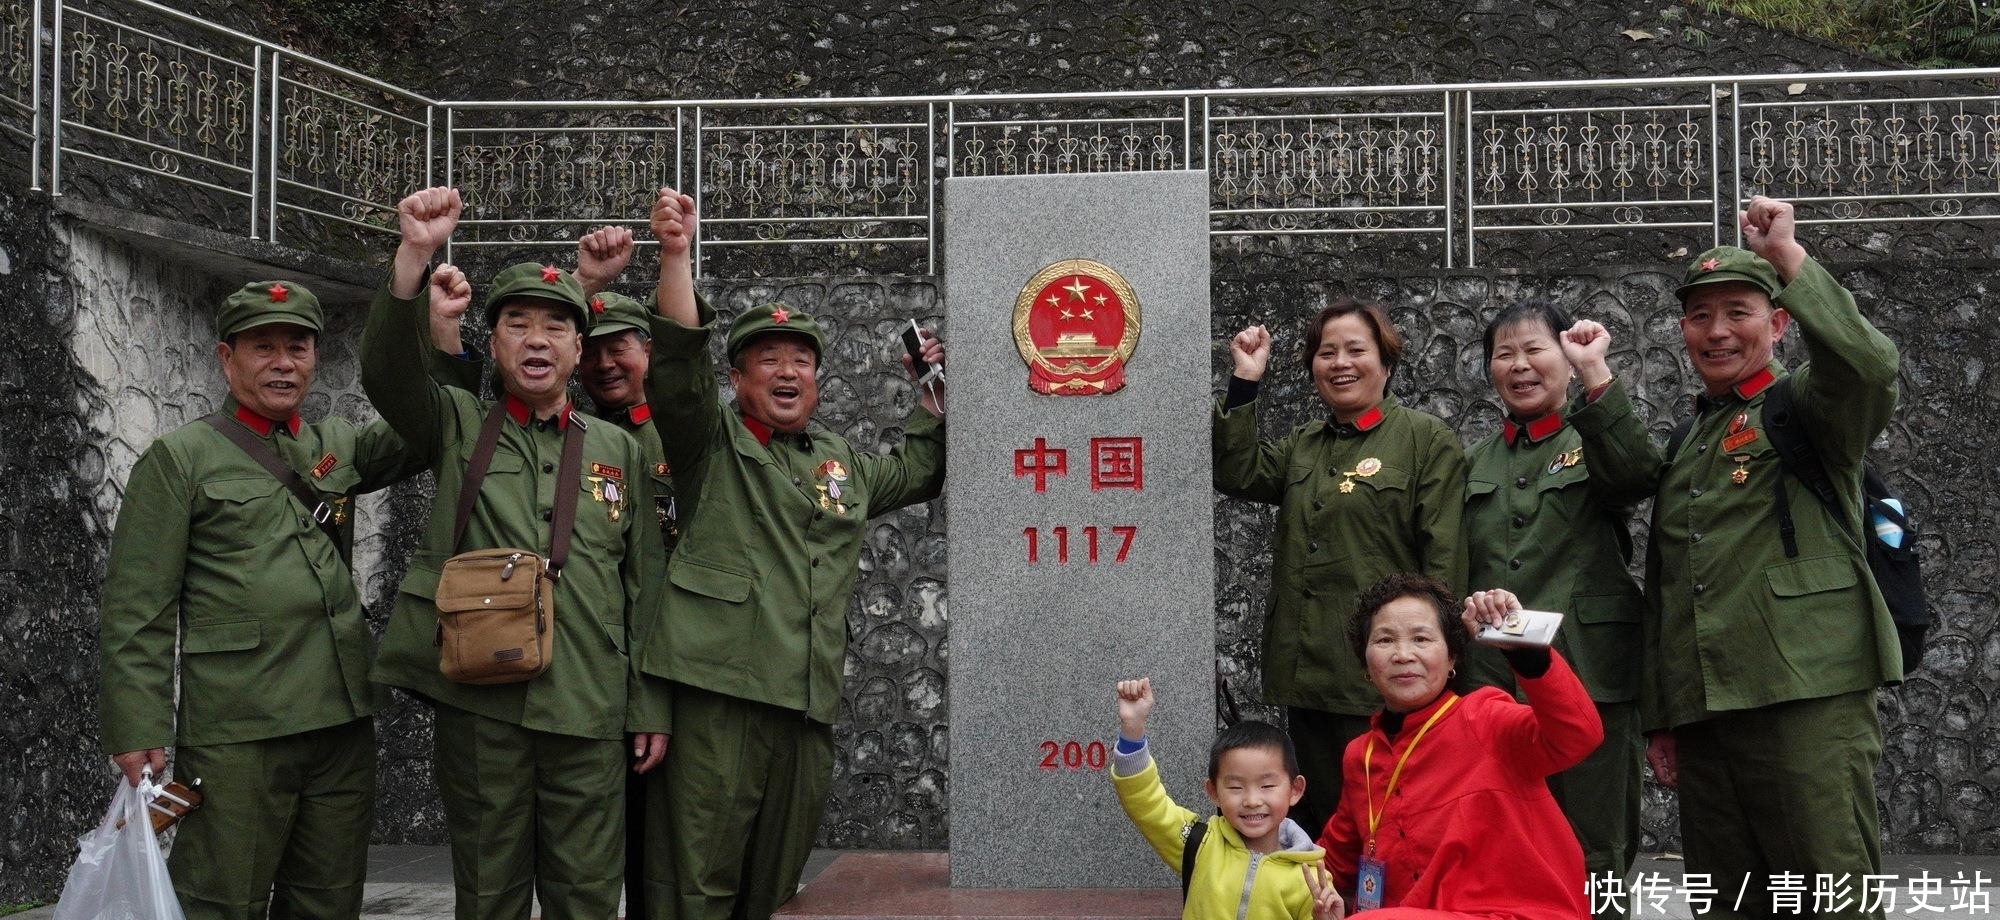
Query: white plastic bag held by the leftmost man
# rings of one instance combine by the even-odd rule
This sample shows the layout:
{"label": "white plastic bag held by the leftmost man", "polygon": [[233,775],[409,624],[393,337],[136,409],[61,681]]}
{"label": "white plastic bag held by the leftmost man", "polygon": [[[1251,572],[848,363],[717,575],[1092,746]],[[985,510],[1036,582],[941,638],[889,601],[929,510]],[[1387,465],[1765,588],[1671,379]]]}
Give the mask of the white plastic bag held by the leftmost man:
{"label": "white plastic bag held by the leftmost man", "polygon": [[[158,794],[152,770],[138,786],[122,776],[110,810],[96,830],[78,840],[70,882],[56,902],[56,920],[184,920],[166,856],[152,834],[146,802]],[[124,818],[124,828],[118,820]]]}

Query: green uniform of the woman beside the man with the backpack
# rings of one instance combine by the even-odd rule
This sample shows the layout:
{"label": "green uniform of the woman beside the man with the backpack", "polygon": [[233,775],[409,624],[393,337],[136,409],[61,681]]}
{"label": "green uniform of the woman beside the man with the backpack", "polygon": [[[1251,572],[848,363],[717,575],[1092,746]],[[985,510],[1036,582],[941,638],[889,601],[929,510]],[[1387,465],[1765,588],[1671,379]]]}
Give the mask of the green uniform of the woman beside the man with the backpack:
{"label": "green uniform of the woman beside the man with the backpack", "polygon": [[[1640,620],[1646,598],[1626,568],[1630,512],[1652,496],[1660,450],[1624,384],[1596,400],[1486,436],[1466,452],[1466,584],[1506,588],[1530,610],[1562,612],[1556,650],[1598,704],[1604,744],[1548,778],[1584,846],[1592,878],[1624,878],[1638,856]],[[1474,682],[1514,692],[1506,658],[1466,650]]]}

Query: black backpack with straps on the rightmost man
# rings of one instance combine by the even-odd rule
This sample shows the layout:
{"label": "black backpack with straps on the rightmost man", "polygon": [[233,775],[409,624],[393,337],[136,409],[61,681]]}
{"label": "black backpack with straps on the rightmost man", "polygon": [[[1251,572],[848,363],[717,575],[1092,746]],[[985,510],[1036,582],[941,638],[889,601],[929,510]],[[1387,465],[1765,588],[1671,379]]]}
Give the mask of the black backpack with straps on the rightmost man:
{"label": "black backpack with straps on the rightmost man", "polygon": [[[1666,442],[1668,460],[1680,454],[1680,444],[1692,428],[1692,418],[1674,428],[1674,436]],[[1874,576],[1876,588],[1882,590],[1882,600],[1888,604],[1888,616],[1896,622],[1896,644],[1902,646],[1902,676],[1916,674],[1924,664],[1924,636],[1930,632],[1932,618],[1930,602],[1924,600],[1924,570],[1916,552],[1916,524],[1910,522],[1908,514],[1910,502],[1888,488],[1888,482],[1882,480],[1874,464],[1864,462],[1862,534],[1850,530],[1848,516],[1840,508],[1840,492],[1834,490],[1834,478],[1826,474],[1826,464],[1820,462],[1820,448],[1812,444],[1812,436],[1806,434],[1804,422],[1792,408],[1792,378],[1782,378],[1764,392],[1764,434],[1778,448],[1778,466],[1798,478],[1826,506],[1826,512],[1840,522],[1842,532],[1866,546],[1868,574]],[[1792,504],[1784,492],[1784,478],[1778,478],[1770,492],[1772,506],[1778,510],[1778,536],[1784,540],[1784,554],[1788,558],[1798,556]],[[1888,504],[1890,498],[1902,504],[1904,510]],[[1876,516],[1902,528],[1902,546],[1890,546],[1874,536],[1868,522]]]}

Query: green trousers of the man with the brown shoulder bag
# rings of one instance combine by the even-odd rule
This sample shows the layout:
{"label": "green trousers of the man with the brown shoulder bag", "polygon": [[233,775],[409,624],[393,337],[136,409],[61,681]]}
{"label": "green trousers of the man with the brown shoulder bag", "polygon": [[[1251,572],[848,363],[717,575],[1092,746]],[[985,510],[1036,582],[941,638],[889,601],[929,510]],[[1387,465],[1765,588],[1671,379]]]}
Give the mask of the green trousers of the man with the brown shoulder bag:
{"label": "green trousers of the man with the brown shoulder bag", "polygon": [[626,746],[436,706],[434,772],[454,916],[614,920],[624,882]]}

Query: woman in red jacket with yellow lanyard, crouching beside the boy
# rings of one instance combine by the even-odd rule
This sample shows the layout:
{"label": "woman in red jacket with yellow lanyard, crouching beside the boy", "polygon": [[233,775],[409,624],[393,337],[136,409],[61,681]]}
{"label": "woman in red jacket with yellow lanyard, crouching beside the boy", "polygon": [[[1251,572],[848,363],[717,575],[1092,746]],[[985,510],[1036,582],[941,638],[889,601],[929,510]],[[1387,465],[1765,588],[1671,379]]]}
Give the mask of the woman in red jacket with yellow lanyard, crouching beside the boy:
{"label": "woman in red jacket with yellow lanyard, crouching beside the boy", "polygon": [[1536,648],[1506,652],[1526,706],[1450,690],[1466,638],[1520,608],[1504,590],[1458,612],[1444,584],[1396,574],[1356,606],[1350,638],[1382,712],[1348,744],[1340,810],[1320,834],[1348,904],[1390,908],[1380,920],[1586,918],[1584,852],[1544,782],[1604,738],[1582,682]]}

